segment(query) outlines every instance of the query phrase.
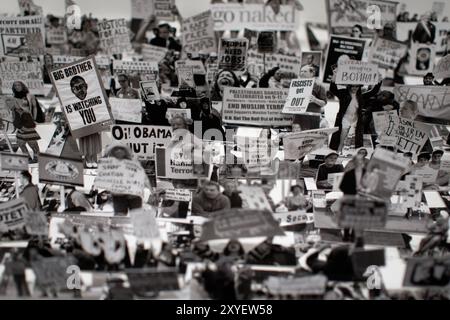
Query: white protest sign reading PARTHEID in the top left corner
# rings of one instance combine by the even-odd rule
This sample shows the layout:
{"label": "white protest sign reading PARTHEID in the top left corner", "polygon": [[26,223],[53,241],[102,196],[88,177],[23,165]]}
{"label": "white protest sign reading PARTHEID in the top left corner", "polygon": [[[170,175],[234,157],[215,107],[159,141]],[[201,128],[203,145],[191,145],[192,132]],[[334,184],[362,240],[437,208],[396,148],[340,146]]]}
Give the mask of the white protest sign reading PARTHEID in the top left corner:
{"label": "white protest sign reading PARTHEID in the top left corner", "polygon": [[[44,18],[39,15],[26,17],[0,17],[0,56],[29,55],[33,43],[27,35],[40,34],[40,48],[44,48]],[[32,39],[28,36],[28,39]]]}

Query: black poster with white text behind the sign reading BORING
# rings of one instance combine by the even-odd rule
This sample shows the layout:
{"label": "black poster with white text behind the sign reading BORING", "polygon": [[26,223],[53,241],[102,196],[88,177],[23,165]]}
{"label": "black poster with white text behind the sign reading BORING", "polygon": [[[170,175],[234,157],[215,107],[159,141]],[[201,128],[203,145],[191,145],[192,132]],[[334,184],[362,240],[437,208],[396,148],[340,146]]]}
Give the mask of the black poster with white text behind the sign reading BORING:
{"label": "black poster with white text behind the sign reading BORING", "polygon": [[362,60],[366,41],[364,39],[330,36],[323,82],[330,83],[333,77],[333,68],[345,60]]}

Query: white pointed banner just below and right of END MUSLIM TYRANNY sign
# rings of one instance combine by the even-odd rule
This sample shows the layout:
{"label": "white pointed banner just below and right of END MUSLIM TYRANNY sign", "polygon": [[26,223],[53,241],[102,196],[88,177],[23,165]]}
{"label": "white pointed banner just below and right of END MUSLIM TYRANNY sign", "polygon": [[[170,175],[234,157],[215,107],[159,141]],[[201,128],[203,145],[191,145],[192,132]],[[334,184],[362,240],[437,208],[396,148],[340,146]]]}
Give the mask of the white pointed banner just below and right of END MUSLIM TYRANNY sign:
{"label": "white pointed banner just below and right of END MUSLIM TYRANNY sign", "polygon": [[338,128],[326,128],[289,133],[283,138],[284,159],[298,160],[328,143],[330,134]]}

